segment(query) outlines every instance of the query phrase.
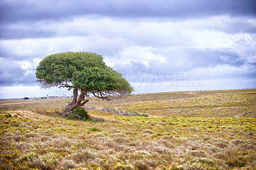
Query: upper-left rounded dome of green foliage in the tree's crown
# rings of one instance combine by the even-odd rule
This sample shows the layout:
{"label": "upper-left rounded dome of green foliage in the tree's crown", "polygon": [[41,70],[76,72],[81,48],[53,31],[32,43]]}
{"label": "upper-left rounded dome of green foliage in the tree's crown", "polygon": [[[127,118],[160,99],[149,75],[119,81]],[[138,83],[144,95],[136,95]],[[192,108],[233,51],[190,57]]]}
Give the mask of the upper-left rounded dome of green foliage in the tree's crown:
{"label": "upper-left rounded dome of green foliage in the tree's crown", "polygon": [[91,52],[63,52],[44,58],[36,68],[36,78],[45,88],[71,82],[76,72],[90,66],[105,66],[103,58]]}

